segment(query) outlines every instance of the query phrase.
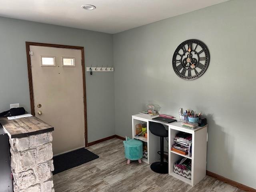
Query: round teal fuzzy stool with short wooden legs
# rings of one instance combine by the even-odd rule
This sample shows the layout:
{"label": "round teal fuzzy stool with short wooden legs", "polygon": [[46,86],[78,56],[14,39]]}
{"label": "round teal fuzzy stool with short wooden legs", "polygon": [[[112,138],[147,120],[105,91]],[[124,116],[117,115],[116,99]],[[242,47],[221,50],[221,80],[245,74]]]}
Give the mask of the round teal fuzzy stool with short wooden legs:
{"label": "round teal fuzzy stool with short wooden legs", "polygon": [[127,138],[127,141],[124,141],[124,156],[127,159],[127,164],[130,164],[131,160],[138,160],[141,163],[142,141]]}

